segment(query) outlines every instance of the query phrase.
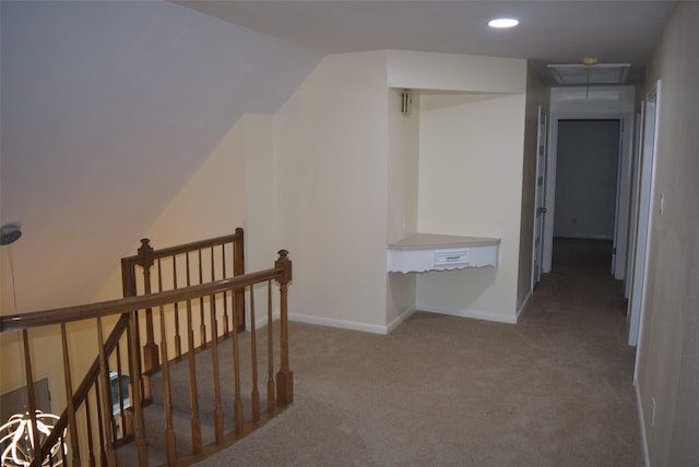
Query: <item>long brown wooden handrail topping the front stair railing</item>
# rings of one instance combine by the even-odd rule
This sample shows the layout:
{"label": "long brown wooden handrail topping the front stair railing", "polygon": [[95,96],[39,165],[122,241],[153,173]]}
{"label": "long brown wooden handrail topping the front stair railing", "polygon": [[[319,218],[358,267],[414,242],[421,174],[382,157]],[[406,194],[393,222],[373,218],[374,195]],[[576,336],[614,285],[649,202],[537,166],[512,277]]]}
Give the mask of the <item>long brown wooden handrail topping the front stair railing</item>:
{"label": "long brown wooden handrail topping the front stair railing", "polygon": [[202,296],[251,286],[264,280],[279,279],[284,277],[284,267],[273,267],[257,273],[249,273],[245,276],[229,277],[227,279],[215,280],[213,283],[190,286],[181,289],[166,290],[162,292],[74,307],[57,308],[54,310],[1,316],[0,332],[26,330],[31,327],[48,326],[51,324],[70,323],[97,316],[104,318],[112,314],[129,313],[133,310],[154,308],[162,303],[181,302]]}

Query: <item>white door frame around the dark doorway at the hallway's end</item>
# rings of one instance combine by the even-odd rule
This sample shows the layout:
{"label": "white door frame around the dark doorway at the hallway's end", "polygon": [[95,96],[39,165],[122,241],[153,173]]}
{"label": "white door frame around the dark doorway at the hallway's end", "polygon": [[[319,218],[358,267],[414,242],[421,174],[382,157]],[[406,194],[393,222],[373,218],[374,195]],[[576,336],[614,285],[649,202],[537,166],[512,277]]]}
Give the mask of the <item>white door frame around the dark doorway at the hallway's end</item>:
{"label": "white door frame around the dark doorway at the hallway's end", "polygon": [[626,256],[628,249],[628,219],[629,219],[629,196],[631,181],[631,157],[633,112],[623,111],[565,111],[552,113],[548,125],[548,159],[546,161],[546,216],[544,220],[544,251],[542,260],[542,271],[549,273],[553,263],[554,249],[554,218],[556,206],[556,159],[558,157],[558,122],[559,120],[619,120],[620,146],[624,148],[620,154],[619,170],[617,170],[617,208],[615,214],[614,243],[616,246],[616,256],[614,260],[614,277],[626,279]]}

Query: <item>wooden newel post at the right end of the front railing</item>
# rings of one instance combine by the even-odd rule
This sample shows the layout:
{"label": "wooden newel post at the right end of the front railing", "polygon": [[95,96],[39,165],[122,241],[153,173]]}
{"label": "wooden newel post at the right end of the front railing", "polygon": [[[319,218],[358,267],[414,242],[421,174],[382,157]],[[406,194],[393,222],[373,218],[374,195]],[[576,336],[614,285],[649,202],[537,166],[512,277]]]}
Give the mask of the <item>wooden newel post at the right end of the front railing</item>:
{"label": "wooden newel post at the right end of the front railing", "polygon": [[280,259],[274,267],[283,270],[276,282],[280,285],[280,371],[276,373],[276,400],[279,405],[287,406],[294,402],[294,372],[288,368],[288,315],[287,288],[292,280],[292,261],[288,251],[280,250]]}

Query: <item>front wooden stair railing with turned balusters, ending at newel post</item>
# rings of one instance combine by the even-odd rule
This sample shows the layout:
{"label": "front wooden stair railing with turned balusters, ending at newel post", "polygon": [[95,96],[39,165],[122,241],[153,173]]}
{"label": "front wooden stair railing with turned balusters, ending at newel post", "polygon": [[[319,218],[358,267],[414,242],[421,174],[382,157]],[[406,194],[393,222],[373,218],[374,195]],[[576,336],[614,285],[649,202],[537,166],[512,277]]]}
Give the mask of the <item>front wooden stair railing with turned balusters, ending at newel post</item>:
{"label": "front wooden stair railing with turned balusters, ending at newel post", "polygon": [[[237,232],[238,234],[238,232]],[[241,234],[241,232],[240,232]],[[144,243],[146,244],[146,243]],[[209,246],[212,249],[213,247]],[[163,256],[164,258],[164,256]],[[198,253],[198,265],[196,271],[202,270],[202,259]],[[212,256],[213,258],[213,256]],[[163,260],[161,259],[161,264]],[[189,267],[189,260],[182,260]],[[205,263],[205,262],[204,262]],[[157,260],[154,260],[157,264]],[[213,265],[213,261],[212,261]],[[213,266],[212,266],[213,267]],[[158,267],[159,270],[159,267]],[[230,270],[228,270],[230,271]],[[213,272],[211,273],[213,277]],[[159,273],[157,273],[159,275]],[[206,279],[205,274],[200,278]],[[153,330],[159,331],[159,338],[153,332],[152,345],[159,349],[157,356],[158,368],[163,376],[163,408],[165,411],[165,445],[167,465],[187,465],[200,459],[203,454],[210,454],[227,446],[248,434],[262,422],[273,418],[280,410],[288,406],[293,399],[293,372],[288,367],[288,327],[287,327],[287,285],[292,279],[292,262],[287,258],[287,252],[280,251],[279,260],[274,267],[261,272],[242,274],[237,277],[204,282],[203,284],[191,285],[186,280],[186,286],[180,288],[165,289],[164,277],[155,280],[157,291],[146,295],[128,296],[121,300],[111,300],[100,303],[69,307],[56,310],[48,310],[34,313],[25,313],[14,316],[0,318],[0,331],[21,332],[24,361],[25,379],[27,383],[27,411],[31,416],[36,409],[36,402],[33,394],[33,372],[31,348],[31,331],[38,327],[56,326],[60,333],[60,347],[63,356],[64,386],[68,400],[67,407],[55,423],[55,428],[48,436],[45,436],[40,446],[34,446],[32,466],[40,466],[45,459],[51,457],[51,450],[57,443],[66,448],[60,450],[60,456],[69,465],[81,466],[114,466],[118,465],[118,456],[115,448],[130,441],[135,442],[138,465],[146,466],[149,463],[149,446],[145,436],[144,422],[144,399],[145,394],[141,387],[142,379],[139,378],[142,361],[145,355],[151,351],[150,346],[142,346],[139,339],[139,327],[145,325],[147,320],[154,316]],[[273,300],[272,282],[280,285],[279,300],[279,333],[280,338],[273,338]],[[257,348],[256,322],[256,289],[264,291],[266,286],[266,355],[261,358]],[[125,291],[127,286],[125,285]],[[133,290],[133,289],[131,289]],[[246,300],[247,295],[247,300]],[[239,297],[239,299],[238,299]],[[238,301],[239,300],[239,301]],[[240,322],[238,316],[245,309],[241,303],[248,302],[250,322],[253,324],[250,331],[249,350],[240,347],[240,339],[237,332],[228,332],[220,320],[227,321],[224,316],[230,311],[232,328],[238,330]],[[202,310],[203,309],[203,310]],[[170,345],[176,343],[176,335],[173,331],[175,316],[185,310],[185,326],[187,328],[186,343],[180,343],[180,348],[170,352]],[[197,320],[200,319],[200,321]],[[181,319],[181,316],[180,316]],[[70,351],[70,333],[68,327],[71,323],[91,320],[95,323],[95,347],[97,357],[88,366],[84,378],[73,392],[71,382],[73,381],[72,362]],[[202,323],[203,322],[203,323]],[[194,328],[197,325],[209,326],[211,339],[197,342]],[[105,338],[106,330],[109,335]],[[146,333],[149,334],[149,333]],[[226,338],[226,334],[228,337]],[[200,334],[201,336],[201,334]],[[151,336],[149,335],[147,338]],[[220,382],[218,352],[221,346],[226,342],[230,343],[233,355],[232,373],[234,379],[234,400],[233,414],[225,414],[222,408],[222,387]],[[80,352],[86,351],[86,345],[81,340]],[[75,346],[75,343],[73,343]],[[175,344],[175,347],[177,345]],[[214,408],[212,418],[214,420],[215,438],[203,440],[201,434],[200,407],[197,395],[197,359],[194,355],[201,352],[202,347],[208,347],[212,359],[212,373],[214,383]],[[277,347],[280,360],[276,375],[273,373],[274,347]],[[94,347],[93,347],[94,348]],[[249,352],[250,360],[242,360],[245,354]],[[74,354],[74,352],[73,352]],[[126,356],[126,357],[125,357]],[[125,363],[126,360],[126,363]],[[260,360],[260,361],[258,361]],[[258,367],[264,364],[266,360],[266,407],[261,410],[260,394],[258,388]],[[152,360],[153,361],[153,360]],[[173,400],[169,381],[170,366],[176,361],[187,361],[189,363],[189,393],[191,411],[191,450],[186,454],[179,454],[176,438],[178,433],[173,422]],[[250,393],[242,393],[241,390],[241,362],[246,362],[246,374],[251,374]],[[153,374],[155,370],[147,370]],[[145,373],[146,371],[144,371]],[[127,378],[128,385],[122,385],[122,379]],[[135,376],[135,378],[134,378]],[[276,378],[275,378],[276,376]],[[115,387],[116,378],[116,387]],[[115,394],[116,393],[116,394]],[[249,396],[248,396],[249,394]],[[139,397],[137,397],[139,395]],[[152,394],[151,394],[152,395]],[[245,402],[244,402],[245,399]],[[115,403],[116,400],[116,403]],[[250,416],[244,416],[244,405],[249,407]],[[230,417],[233,430],[224,431],[224,419]],[[34,418],[34,417],[32,417]],[[33,420],[35,421],[35,420]],[[36,427],[36,423],[33,423]],[[37,434],[37,433],[35,433]],[[64,441],[68,439],[68,442]],[[40,439],[37,434],[35,439]],[[66,442],[66,444],[63,444]],[[206,442],[206,444],[204,444]],[[205,447],[205,448],[204,448]],[[55,465],[58,458],[48,460],[47,465]]]}

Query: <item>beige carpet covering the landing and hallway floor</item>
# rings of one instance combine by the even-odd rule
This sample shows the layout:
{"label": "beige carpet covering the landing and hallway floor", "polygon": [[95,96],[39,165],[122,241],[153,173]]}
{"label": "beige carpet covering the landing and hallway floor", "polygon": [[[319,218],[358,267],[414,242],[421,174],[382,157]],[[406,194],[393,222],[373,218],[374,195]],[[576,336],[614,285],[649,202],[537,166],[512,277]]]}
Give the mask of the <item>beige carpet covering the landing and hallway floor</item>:
{"label": "beige carpet covering the landing and hallway floor", "polygon": [[609,255],[557,242],[517,325],[417,312],[379,336],[292,323],[293,407],[197,465],[642,465]]}

